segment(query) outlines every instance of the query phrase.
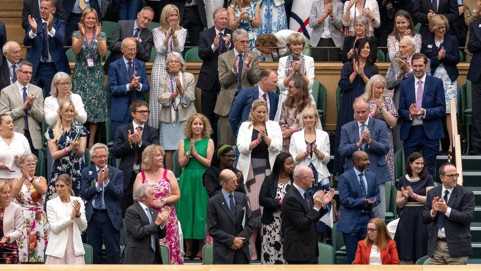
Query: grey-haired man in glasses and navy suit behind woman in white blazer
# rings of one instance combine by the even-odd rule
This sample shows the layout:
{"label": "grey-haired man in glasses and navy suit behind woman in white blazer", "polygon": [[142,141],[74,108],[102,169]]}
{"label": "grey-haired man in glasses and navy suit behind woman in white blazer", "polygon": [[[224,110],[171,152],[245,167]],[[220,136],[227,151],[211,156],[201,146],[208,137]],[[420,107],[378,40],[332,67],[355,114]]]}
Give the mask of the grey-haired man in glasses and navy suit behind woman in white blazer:
{"label": "grey-haired man in glasses and navy suit behind woman in white blazer", "polygon": [[124,175],[107,165],[108,148],[96,143],[90,149],[93,164],[82,170],[81,196],[86,201],[87,239],[93,249],[93,264],[101,264],[102,245],[107,264],[120,263],[120,230],[123,228],[120,199]]}

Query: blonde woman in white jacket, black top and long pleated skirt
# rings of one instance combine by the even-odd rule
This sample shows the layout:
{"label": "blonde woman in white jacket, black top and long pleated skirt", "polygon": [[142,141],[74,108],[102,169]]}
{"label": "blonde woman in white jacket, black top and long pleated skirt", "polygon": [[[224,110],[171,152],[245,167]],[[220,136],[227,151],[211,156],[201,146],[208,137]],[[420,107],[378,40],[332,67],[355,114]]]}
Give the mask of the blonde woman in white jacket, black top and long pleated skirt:
{"label": "blonde woman in white jacket, black top and long pleated skirt", "polygon": [[254,231],[249,239],[252,260],[257,260],[255,241],[262,225],[262,208],[259,205],[259,191],[264,178],[271,174],[275,157],[282,148],[282,133],[279,123],[269,120],[267,102],[257,99],[252,103],[249,119],[242,122],[237,137],[239,161],[237,169],[242,171],[247,198],[252,210]]}

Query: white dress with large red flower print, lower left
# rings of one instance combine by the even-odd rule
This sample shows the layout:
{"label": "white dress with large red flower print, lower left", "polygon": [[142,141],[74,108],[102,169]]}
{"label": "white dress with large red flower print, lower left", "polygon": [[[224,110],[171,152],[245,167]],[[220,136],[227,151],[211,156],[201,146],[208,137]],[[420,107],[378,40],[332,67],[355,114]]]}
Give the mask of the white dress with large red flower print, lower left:
{"label": "white dress with large red flower print, lower left", "polygon": [[[32,182],[39,181],[40,177],[32,180]],[[34,186],[29,189],[24,184],[14,201],[22,206],[26,231],[18,240],[20,262],[43,263],[49,231],[47,215],[43,211],[45,196],[39,194]]]}

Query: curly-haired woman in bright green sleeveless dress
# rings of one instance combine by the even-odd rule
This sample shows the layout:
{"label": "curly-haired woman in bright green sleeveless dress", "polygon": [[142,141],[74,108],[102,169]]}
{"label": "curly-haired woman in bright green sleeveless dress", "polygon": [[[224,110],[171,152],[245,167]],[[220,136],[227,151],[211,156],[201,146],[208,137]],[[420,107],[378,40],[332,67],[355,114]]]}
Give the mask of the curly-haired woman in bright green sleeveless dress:
{"label": "curly-haired woman in bright green sleeveless dress", "polygon": [[197,113],[185,122],[185,138],[179,142],[179,164],[183,170],[179,179],[180,199],[175,209],[187,246],[184,260],[190,260],[192,256],[192,239],[199,240],[199,252],[194,261],[202,260],[209,198],[202,184],[202,175],[210,166],[214,153],[214,142],[209,138],[211,133],[208,118]]}

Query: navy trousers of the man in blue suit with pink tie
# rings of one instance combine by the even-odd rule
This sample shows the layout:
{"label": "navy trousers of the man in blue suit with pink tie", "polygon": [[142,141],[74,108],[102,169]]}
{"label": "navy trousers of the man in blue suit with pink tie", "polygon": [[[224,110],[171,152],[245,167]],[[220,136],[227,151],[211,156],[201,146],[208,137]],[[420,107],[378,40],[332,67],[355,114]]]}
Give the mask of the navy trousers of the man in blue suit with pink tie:
{"label": "navy trousers of the man in blue suit with pink tie", "polygon": [[406,161],[413,152],[420,152],[424,157],[424,166],[429,174],[436,179],[436,155],[438,151],[439,139],[429,139],[424,132],[423,125],[411,126],[409,136],[404,140],[404,159]]}

